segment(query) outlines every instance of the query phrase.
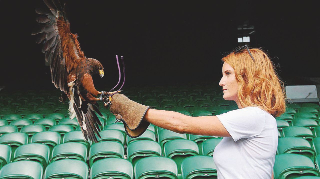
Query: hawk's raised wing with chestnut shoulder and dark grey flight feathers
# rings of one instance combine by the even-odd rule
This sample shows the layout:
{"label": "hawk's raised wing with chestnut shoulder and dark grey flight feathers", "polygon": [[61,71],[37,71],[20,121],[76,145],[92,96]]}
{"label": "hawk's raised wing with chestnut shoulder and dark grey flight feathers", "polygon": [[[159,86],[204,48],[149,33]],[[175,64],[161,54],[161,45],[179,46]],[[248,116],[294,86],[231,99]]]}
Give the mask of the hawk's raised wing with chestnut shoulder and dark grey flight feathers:
{"label": "hawk's raised wing with chestnut shoulder and dark grey flight feathers", "polygon": [[39,27],[32,32],[36,43],[43,42],[42,52],[49,62],[52,83],[67,92],[67,76],[84,58],[77,35],[70,32],[70,24],[58,0],[44,0],[45,5],[36,9],[41,16],[36,20]]}

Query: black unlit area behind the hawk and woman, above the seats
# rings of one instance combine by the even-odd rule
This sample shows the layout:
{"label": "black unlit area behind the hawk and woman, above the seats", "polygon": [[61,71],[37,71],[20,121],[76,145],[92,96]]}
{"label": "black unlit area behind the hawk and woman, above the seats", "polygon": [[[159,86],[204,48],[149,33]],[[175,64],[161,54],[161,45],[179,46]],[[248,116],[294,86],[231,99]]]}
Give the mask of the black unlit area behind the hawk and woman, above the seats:
{"label": "black unlit area behind the hawk and woman, above the seats", "polygon": [[[95,86],[118,81],[116,55],[124,56],[125,85],[212,82],[221,78],[221,58],[239,46],[237,27],[254,26],[251,47],[267,51],[286,84],[319,75],[319,13],[312,3],[184,1],[64,1],[71,32],[85,56],[98,59],[105,76]],[[214,1],[216,2],[216,1]],[[0,0],[0,86],[53,88],[42,45],[30,35],[40,0]],[[108,90],[108,89],[104,89]]]}

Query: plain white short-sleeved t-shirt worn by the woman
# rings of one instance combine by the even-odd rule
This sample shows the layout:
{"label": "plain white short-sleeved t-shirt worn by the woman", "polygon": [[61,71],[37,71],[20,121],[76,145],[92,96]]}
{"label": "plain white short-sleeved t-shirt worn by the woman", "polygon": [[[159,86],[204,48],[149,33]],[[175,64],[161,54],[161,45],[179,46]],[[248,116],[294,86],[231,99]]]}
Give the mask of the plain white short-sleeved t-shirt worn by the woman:
{"label": "plain white short-sleeved t-shirt worn by the woman", "polygon": [[218,179],[270,179],[278,146],[276,119],[259,107],[217,115],[231,137],[215,147]]}

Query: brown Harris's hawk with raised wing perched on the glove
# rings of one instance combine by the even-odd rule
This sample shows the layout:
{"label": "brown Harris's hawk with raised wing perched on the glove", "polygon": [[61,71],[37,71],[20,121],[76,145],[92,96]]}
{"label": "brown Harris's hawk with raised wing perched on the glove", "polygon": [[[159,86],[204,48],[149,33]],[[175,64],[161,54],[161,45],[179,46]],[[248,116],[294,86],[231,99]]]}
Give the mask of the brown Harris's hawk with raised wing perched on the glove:
{"label": "brown Harris's hawk with raised wing perched on the glove", "polygon": [[[42,52],[49,62],[52,83],[63,91],[64,102],[70,100],[70,119],[76,117],[84,138],[98,142],[95,134],[100,137],[101,126],[97,114],[102,116],[98,107],[101,94],[93,85],[92,75],[104,75],[101,63],[93,58],[84,56],[77,35],[70,32],[70,23],[58,0],[43,0],[43,7],[37,8],[36,18],[39,27],[32,33],[37,35],[36,43],[43,43]],[[97,113],[97,114],[96,114]]]}

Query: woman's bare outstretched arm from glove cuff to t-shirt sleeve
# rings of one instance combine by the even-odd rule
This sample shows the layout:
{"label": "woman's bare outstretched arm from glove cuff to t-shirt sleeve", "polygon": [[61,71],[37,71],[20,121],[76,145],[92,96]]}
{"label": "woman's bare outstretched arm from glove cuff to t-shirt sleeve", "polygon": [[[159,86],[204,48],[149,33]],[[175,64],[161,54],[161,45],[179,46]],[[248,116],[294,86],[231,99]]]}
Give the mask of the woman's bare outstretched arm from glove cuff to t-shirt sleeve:
{"label": "woman's bare outstretched arm from glove cuff to t-shirt sleeve", "polygon": [[180,134],[230,137],[217,116],[190,117],[174,111],[148,109],[143,120]]}

